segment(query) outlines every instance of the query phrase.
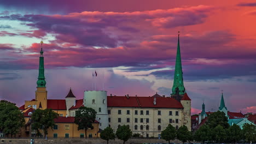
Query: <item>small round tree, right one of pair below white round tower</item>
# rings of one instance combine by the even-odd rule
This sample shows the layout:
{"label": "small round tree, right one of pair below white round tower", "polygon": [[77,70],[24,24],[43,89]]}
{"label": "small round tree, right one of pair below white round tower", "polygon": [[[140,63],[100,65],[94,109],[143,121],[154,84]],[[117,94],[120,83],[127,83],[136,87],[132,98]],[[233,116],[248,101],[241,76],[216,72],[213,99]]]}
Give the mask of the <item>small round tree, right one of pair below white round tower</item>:
{"label": "small round tree, right one of pair below white round tower", "polygon": [[129,125],[122,125],[117,129],[115,135],[118,139],[123,140],[124,143],[132,137],[132,131],[129,128]]}

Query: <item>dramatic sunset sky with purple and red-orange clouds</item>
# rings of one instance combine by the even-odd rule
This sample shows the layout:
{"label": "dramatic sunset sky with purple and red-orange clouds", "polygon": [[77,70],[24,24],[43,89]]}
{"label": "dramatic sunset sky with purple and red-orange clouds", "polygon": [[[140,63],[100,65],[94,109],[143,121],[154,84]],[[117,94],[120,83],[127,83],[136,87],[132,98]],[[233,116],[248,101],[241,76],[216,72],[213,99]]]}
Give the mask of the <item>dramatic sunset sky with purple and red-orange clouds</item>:
{"label": "dramatic sunset sky with purple and red-orange clouds", "polygon": [[217,111],[223,91],[229,111],[256,113],[255,25],[255,1],[2,0],[0,99],[34,99],[41,40],[49,99],[170,96],[180,31],[191,112]]}

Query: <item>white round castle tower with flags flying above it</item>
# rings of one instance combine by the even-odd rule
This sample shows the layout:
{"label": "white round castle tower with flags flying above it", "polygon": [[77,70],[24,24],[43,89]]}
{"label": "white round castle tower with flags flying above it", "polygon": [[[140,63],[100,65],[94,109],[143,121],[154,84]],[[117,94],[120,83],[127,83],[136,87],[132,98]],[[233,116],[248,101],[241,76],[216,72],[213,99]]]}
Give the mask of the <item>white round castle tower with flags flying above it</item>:
{"label": "white round castle tower with flags flying above it", "polygon": [[108,127],[107,91],[84,91],[84,106],[97,112],[100,129]]}

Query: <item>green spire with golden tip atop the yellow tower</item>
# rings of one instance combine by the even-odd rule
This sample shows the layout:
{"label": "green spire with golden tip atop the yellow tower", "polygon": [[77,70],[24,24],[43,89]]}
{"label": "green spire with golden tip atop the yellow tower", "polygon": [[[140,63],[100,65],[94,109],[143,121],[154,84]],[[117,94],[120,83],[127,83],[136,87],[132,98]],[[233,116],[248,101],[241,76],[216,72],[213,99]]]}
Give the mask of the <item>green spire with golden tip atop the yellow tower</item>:
{"label": "green spire with golden tip atop the yellow tower", "polygon": [[45,87],[46,81],[44,77],[44,56],[43,56],[43,41],[41,41],[41,51],[39,57],[39,74],[37,80],[37,87]]}

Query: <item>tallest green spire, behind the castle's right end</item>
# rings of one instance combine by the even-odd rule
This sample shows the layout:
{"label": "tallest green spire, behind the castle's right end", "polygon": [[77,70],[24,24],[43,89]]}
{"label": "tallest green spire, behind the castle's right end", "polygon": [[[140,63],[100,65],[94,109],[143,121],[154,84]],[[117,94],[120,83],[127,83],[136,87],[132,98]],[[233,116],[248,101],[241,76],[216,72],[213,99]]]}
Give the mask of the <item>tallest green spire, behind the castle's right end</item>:
{"label": "tallest green spire, behind the castle's right end", "polygon": [[183,76],[182,76],[182,63],[181,63],[181,51],[179,48],[179,34],[178,34],[178,46],[177,46],[177,55],[175,63],[175,72],[172,86],[172,94],[176,94],[177,88],[179,89],[179,94],[182,95],[185,93],[185,87],[183,85]]}

